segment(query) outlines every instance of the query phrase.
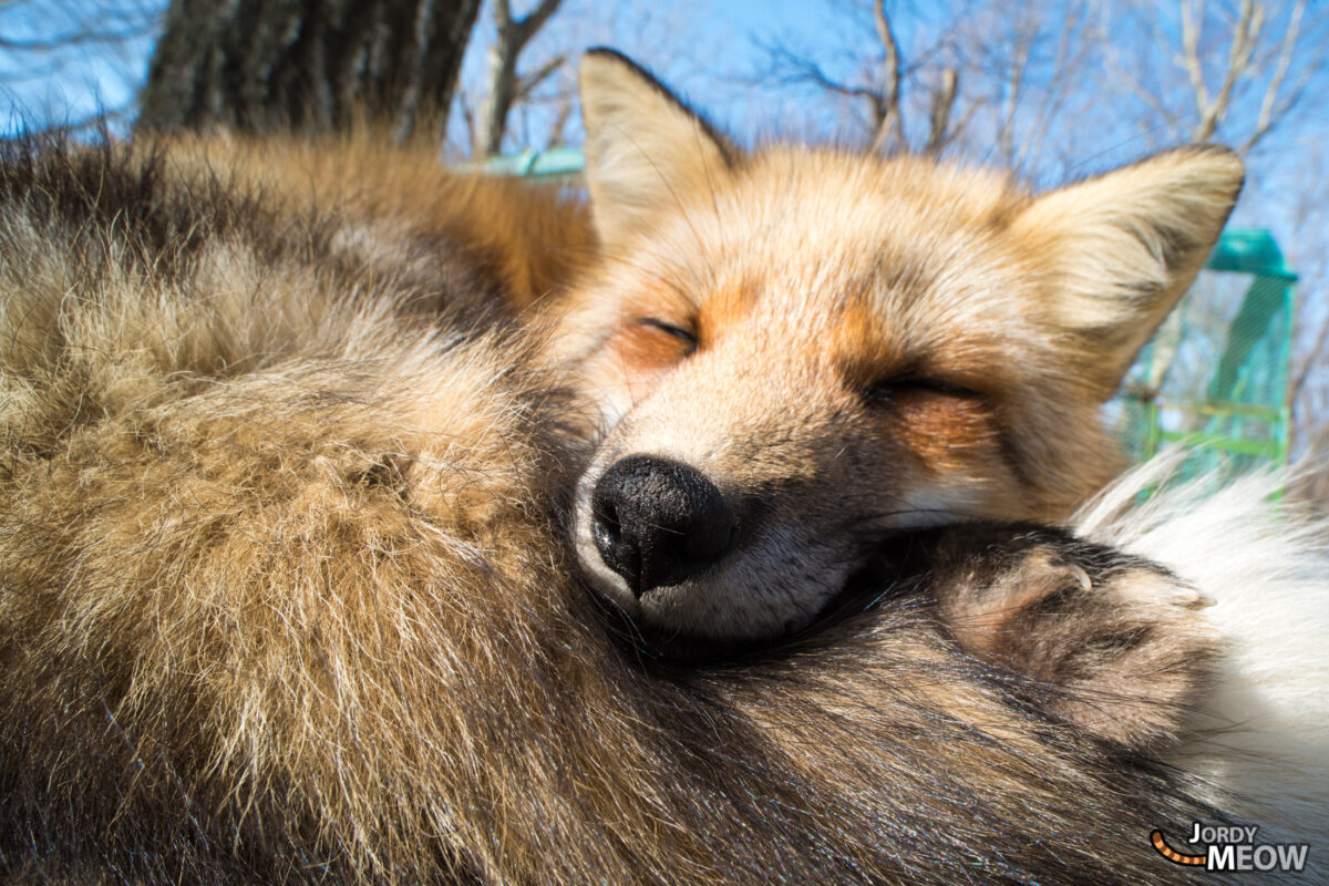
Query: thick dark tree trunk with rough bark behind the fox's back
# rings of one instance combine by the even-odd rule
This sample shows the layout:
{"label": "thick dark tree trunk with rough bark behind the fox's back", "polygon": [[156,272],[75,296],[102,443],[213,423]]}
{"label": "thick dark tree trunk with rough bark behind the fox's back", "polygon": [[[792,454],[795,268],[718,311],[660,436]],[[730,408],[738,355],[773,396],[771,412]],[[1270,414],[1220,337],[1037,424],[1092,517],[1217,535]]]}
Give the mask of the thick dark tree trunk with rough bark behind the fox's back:
{"label": "thick dark tree trunk with rough bark behind the fox's back", "polygon": [[171,0],[138,126],[443,132],[480,0]]}

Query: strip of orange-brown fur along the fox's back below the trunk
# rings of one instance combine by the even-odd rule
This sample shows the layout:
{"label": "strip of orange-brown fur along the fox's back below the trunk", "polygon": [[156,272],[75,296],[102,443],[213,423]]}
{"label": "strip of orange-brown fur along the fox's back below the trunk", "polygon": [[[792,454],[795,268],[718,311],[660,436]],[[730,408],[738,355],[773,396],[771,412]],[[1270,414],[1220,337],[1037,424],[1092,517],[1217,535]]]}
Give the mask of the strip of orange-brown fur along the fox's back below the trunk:
{"label": "strip of orange-brown fur along the fox's back below the trunk", "polygon": [[283,213],[334,215],[339,250],[388,275],[417,271],[437,295],[484,302],[470,310],[532,308],[562,292],[594,250],[574,195],[449,175],[433,145],[388,150],[372,129],[335,143],[181,135],[161,150],[181,174],[241,175]]}

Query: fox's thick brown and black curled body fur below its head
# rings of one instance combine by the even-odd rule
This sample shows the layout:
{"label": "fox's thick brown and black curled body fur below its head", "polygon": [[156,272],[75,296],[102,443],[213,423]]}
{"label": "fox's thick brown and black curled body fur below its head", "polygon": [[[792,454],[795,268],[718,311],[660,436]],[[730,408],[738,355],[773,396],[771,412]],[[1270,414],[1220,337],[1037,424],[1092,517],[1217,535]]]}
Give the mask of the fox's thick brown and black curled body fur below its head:
{"label": "fox's thick brown and black curled body fur below its head", "polygon": [[1220,820],[1187,778],[918,595],[728,664],[621,642],[476,250],[403,258],[363,151],[263,178],[344,147],[4,149],[4,879],[1191,882],[1148,843]]}

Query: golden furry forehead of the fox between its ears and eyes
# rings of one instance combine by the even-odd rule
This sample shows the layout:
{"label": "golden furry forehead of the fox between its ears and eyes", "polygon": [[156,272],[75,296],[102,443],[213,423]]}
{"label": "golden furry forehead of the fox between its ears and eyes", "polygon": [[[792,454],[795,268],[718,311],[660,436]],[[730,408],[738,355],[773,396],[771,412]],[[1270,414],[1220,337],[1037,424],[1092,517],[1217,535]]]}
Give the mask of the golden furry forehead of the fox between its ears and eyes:
{"label": "golden furry forehead of the fox between its ears and eyes", "polygon": [[975,371],[1027,339],[1037,275],[1006,227],[1026,198],[1001,177],[772,149],[674,193],[623,248],[625,319],[688,325],[710,347],[759,332],[836,359]]}

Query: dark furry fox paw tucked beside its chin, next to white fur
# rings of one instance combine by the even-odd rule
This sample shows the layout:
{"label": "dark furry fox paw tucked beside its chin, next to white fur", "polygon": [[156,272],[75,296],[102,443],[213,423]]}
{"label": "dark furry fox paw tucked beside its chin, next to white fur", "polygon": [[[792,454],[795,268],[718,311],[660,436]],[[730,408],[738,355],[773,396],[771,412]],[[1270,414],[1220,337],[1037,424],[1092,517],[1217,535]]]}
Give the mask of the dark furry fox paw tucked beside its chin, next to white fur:
{"label": "dark furry fox paw tucked beside its chin, next to white fur", "polygon": [[1221,652],[1193,587],[1058,530],[940,530],[926,574],[962,650],[1034,680],[1055,716],[1132,748],[1176,740]]}

